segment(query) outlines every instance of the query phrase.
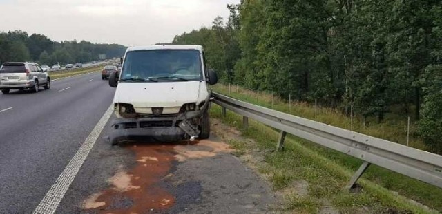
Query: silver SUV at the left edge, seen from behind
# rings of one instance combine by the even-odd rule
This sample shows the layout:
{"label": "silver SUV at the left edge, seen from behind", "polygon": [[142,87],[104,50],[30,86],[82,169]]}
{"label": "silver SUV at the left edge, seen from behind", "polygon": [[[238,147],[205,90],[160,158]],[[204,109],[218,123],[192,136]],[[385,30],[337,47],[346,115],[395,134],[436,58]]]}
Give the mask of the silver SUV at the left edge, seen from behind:
{"label": "silver SUV at the left edge, seen from behind", "polygon": [[9,94],[10,89],[30,89],[39,92],[39,88],[50,88],[50,77],[37,63],[3,63],[0,67],[0,89]]}

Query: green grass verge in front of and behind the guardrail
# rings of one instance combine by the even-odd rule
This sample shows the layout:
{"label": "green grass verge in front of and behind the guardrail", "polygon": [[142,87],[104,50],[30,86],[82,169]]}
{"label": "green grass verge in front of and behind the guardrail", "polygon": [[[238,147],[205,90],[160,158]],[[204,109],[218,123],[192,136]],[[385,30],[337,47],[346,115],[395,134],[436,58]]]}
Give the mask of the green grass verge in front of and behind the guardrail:
{"label": "green grass verge in front of and behind the guardrail", "polygon": [[[225,93],[222,87],[215,87],[215,91],[228,94],[228,89],[227,93]],[[271,105],[271,103],[267,102],[269,99],[268,95],[250,96],[247,92],[241,92],[241,90],[238,90],[238,93],[232,92],[230,95],[257,105]],[[273,109],[283,109],[284,105],[287,104],[277,103],[273,106]],[[332,122],[342,120],[342,123],[345,123],[345,120],[347,120],[345,116],[333,109],[323,110],[327,114],[324,116],[318,115],[318,120],[320,117],[323,117],[322,120],[330,120]],[[302,112],[311,116],[311,108],[309,109],[308,105],[294,107],[292,112]],[[212,113],[213,116],[220,117],[220,108],[214,106]],[[312,116],[314,117],[314,113]],[[332,116],[336,118],[330,118]],[[339,117],[343,118],[339,119]],[[237,115],[229,112],[228,117],[224,118],[224,122],[240,128],[242,124],[240,119]],[[307,180],[310,184],[309,197],[318,200],[321,198],[330,199],[334,206],[345,213],[352,213],[352,211],[356,211],[355,208],[363,206],[369,206],[372,210],[381,213],[388,208],[394,208],[403,213],[407,213],[407,211],[412,211],[412,213],[426,212],[425,209],[408,202],[405,197],[442,211],[442,189],[373,165],[363,175],[364,179],[359,182],[364,189],[362,193],[355,196],[352,193],[343,191],[352,173],[362,163],[361,160],[338,151],[320,147],[295,136],[288,136],[285,151],[271,153],[268,151],[276,147],[278,132],[253,120],[249,123],[251,124],[250,128],[243,130],[243,134],[256,140],[256,147],[258,149],[267,151],[265,152],[265,165],[267,167],[260,167],[259,171],[268,175],[269,181],[272,182],[276,190],[284,189],[294,180]],[[334,124],[332,123],[332,125]],[[377,131],[377,133],[381,132]],[[241,146],[240,142],[234,142],[233,147],[239,149],[240,154],[247,150],[247,147]],[[396,191],[399,195],[405,197],[396,196],[387,189]],[[349,200],[350,198],[352,200]],[[309,213],[311,206],[304,211]]]}

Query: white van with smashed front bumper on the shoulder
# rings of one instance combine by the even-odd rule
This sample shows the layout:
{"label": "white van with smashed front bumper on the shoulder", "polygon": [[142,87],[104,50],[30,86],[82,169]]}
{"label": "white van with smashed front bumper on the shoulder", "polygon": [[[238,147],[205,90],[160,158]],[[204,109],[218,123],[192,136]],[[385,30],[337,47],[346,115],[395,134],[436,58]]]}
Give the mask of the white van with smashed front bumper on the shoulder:
{"label": "white van with smashed front bumper on the shoulder", "polygon": [[209,138],[209,85],[218,76],[205,63],[200,45],[129,47],[117,87],[113,145],[127,140],[177,141]]}

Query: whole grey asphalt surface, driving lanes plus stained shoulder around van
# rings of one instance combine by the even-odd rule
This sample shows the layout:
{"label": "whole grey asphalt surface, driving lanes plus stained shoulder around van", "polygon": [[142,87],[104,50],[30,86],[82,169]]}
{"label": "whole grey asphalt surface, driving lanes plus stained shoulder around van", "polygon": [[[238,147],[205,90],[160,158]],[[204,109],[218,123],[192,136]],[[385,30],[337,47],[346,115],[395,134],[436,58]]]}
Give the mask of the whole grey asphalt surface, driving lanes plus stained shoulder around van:
{"label": "whole grey asphalt surface, driving lanes plus stained shoulder around van", "polygon": [[[55,81],[37,94],[0,94],[0,213],[32,213],[61,183],[66,192],[55,188],[52,195],[59,205],[44,204],[44,211],[50,210],[46,206],[55,213],[272,211],[276,200],[267,183],[216,136],[191,144],[111,147],[106,136],[114,117],[104,120],[103,131],[93,129],[110,112],[114,92],[93,73]],[[93,134],[97,140],[77,164],[79,171],[68,173],[72,183],[59,182]]]}

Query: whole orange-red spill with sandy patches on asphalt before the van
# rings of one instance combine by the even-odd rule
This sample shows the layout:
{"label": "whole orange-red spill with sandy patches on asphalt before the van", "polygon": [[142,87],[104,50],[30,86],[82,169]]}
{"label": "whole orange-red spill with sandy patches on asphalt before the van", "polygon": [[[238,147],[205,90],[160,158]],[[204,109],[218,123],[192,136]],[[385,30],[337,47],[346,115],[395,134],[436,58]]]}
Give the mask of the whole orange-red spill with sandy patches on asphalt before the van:
{"label": "whole orange-red spill with sandy patches on asphalt before the van", "polygon": [[90,195],[82,208],[94,213],[146,213],[167,211],[175,205],[176,197],[164,188],[162,182],[173,176],[174,164],[194,158],[210,158],[217,153],[229,153],[230,147],[222,142],[201,140],[174,144],[137,143],[128,145],[135,154],[131,161],[135,167],[119,170],[106,182],[110,187]]}

